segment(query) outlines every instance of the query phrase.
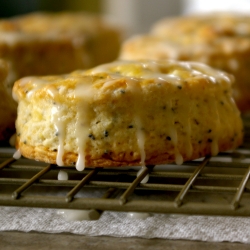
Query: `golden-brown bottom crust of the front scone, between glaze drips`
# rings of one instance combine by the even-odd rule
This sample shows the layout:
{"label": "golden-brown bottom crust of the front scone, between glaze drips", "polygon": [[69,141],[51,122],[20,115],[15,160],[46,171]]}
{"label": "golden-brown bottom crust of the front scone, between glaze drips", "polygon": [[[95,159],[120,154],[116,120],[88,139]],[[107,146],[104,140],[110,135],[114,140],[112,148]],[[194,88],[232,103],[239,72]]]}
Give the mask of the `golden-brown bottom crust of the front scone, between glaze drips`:
{"label": "golden-brown bottom crust of the front scone, between glaze drips", "polygon": [[[227,151],[234,149],[236,145],[242,144],[242,138],[239,138],[238,141],[232,142],[232,140],[226,139],[223,142],[219,143],[219,151]],[[20,142],[20,137],[17,136],[16,148],[18,148],[21,154],[29,159],[34,159],[37,161],[42,161],[50,164],[57,164],[56,157],[57,152],[51,151],[44,146],[31,146]],[[183,160],[189,161],[193,159],[198,159],[204,156],[211,156],[211,146],[209,143],[196,144],[193,145],[194,151],[192,155],[187,156],[186,152],[180,152],[183,156]],[[113,159],[113,157],[115,159]],[[78,159],[78,154],[72,152],[65,152],[63,156],[63,161],[65,166],[75,166]],[[146,165],[162,165],[173,163],[175,161],[174,152],[165,153],[162,155],[152,155],[145,161]],[[140,166],[140,160],[131,161],[130,159],[120,158],[119,155],[103,155],[102,158],[93,159],[91,156],[86,156],[86,165],[88,167],[121,167],[121,166]]]}

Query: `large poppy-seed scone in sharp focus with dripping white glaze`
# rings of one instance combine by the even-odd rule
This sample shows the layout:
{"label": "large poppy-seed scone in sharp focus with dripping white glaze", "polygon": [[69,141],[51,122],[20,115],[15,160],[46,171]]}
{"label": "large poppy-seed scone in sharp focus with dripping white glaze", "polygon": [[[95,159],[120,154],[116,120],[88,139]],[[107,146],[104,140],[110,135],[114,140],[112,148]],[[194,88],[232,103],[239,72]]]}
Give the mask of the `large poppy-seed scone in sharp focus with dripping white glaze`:
{"label": "large poppy-seed scone in sharp focus with dripping white glaze", "polygon": [[116,61],[17,81],[20,153],[59,166],[165,164],[242,142],[232,77],[178,61]]}

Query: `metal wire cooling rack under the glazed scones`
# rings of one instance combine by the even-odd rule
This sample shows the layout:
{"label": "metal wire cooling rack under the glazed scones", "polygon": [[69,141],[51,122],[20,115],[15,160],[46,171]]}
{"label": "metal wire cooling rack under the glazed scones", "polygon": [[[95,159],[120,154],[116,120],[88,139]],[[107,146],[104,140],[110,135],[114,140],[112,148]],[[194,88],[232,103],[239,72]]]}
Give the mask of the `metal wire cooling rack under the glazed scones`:
{"label": "metal wire cooling rack under the glazed scones", "polygon": [[[182,166],[59,168],[0,148],[0,205],[193,215],[250,216],[250,119],[233,152]],[[58,180],[59,171],[68,180]],[[61,172],[62,173],[62,172]],[[149,180],[144,183],[144,178]]]}

